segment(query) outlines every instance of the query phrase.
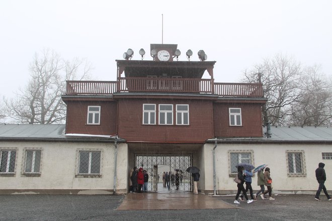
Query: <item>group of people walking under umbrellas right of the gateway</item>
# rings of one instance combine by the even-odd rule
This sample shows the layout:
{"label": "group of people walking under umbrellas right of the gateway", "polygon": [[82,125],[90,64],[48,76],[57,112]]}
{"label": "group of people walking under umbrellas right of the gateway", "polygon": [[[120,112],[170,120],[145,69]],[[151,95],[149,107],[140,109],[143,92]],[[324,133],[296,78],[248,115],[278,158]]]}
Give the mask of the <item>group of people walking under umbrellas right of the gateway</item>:
{"label": "group of people walking under umbrellas right of the gateway", "polygon": [[[265,169],[265,172],[263,172]],[[237,168],[237,178],[240,180],[239,183],[237,183],[237,193],[235,196],[235,200],[234,203],[240,203],[238,201],[238,199],[240,199],[241,201],[243,201],[243,196],[246,199],[246,203],[252,203],[254,200],[257,200],[257,196],[260,195],[262,199],[270,199],[270,200],[274,200],[274,198],[272,198],[271,194],[272,194],[272,178],[270,175],[270,168],[266,167],[266,168],[262,168],[262,170],[258,171],[257,174],[257,185],[259,185],[261,187],[261,189],[256,193],[253,194],[253,187],[252,187],[252,177],[253,177],[253,172],[244,170],[243,167],[239,166]],[[245,183],[245,188],[243,186],[243,184]],[[265,191],[265,186],[268,188]],[[247,196],[247,191],[250,191],[250,196],[251,199],[248,199]],[[241,196],[240,193],[242,192]],[[269,198],[267,198],[265,196],[265,194],[269,193]]]}

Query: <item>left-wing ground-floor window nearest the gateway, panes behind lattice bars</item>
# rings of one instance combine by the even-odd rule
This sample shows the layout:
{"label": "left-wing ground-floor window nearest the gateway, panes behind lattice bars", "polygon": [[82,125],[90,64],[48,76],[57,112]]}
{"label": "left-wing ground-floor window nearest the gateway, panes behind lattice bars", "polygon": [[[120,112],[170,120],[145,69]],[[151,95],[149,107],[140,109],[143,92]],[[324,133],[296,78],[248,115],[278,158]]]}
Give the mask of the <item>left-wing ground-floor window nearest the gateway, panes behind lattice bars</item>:
{"label": "left-wing ground-floor window nearest the gateway, panes behind lattice bars", "polygon": [[79,151],[78,174],[100,174],[101,151]]}

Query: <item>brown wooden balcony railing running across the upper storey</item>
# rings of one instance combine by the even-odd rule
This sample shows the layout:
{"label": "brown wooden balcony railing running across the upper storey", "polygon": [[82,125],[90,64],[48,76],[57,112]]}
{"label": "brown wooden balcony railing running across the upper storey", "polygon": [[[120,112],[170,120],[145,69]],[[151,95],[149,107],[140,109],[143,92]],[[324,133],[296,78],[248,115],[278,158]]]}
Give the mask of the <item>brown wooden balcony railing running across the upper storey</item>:
{"label": "brown wooden balcony railing running across the upper storey", "polygon": [[118,81],[67,81],[65,95],[112,95],[116,92],[215,94],[224,97],[263,97],[258,83],[214,83],[211,79],[120,77]]}

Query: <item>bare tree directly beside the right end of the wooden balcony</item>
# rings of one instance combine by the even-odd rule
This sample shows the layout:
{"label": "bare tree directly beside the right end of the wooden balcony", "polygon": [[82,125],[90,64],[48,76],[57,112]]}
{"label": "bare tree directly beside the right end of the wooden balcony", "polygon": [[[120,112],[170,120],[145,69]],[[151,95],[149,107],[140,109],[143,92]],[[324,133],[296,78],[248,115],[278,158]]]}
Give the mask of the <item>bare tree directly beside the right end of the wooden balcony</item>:
{"label": "bare tree directly beside the right end of the wooden balcony", "polygon": [[263,83],[264,96],[268,99],[262,108],[263,121],[272,125],[286,125],[286,117],[291,115],[290,106],[301,97],[298,84],[301,66],[293,57],[276,54],[272,59],[264,59],[244,71],[244,81]]}

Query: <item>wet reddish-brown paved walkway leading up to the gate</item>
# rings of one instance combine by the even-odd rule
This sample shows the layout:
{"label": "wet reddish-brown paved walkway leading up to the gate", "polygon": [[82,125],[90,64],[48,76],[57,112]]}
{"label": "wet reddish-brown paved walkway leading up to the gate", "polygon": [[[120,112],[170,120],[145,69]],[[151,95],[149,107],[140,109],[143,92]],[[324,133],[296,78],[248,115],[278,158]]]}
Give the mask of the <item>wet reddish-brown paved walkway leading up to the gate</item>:
{"label": "wet reddish-brown paved walkway leading up to the gate", "polygon": [[156,209],[230,209],[237,208],[216,197],[191,192],[128,193],[117,210]]}

